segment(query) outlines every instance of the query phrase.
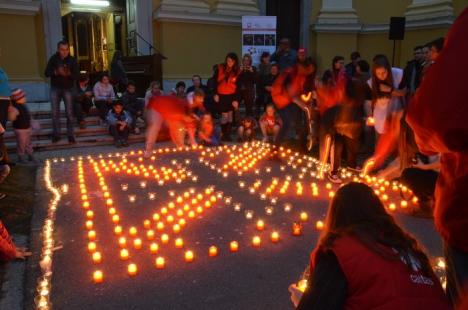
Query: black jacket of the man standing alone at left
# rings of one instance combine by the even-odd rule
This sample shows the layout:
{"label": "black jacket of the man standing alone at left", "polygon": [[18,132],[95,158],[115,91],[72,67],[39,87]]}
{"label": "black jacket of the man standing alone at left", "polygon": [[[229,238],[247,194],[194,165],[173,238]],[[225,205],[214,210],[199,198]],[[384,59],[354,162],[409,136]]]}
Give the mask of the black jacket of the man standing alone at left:
{"label": "black jacket of the man standing alone at left", "polygon": [[[56,75],[56,70],[63,68],[65,75]],[[61,59],[58,53],[50,57],[45,70],[45,76],[50,77],[52,87],[60,89],[71,89],[78,80],[78,64],[74,57],[68,56]]]}

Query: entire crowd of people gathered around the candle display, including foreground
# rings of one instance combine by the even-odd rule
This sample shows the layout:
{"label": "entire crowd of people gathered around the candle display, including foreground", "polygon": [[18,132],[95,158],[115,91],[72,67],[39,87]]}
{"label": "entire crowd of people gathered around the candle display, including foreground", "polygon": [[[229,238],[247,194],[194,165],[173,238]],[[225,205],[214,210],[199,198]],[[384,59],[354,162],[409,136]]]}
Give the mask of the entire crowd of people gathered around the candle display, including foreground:
{"label": "entire crowd of people gathered around the candle display, including foreground", "polygon": [[[163,126],[177,147],[218,146],[232,142],[234,132],[239,142],[260,134],[273,147],[293,138],[306,152],[316,152],[329,165],[327,177],[334,183],[342,182],[342,167],[398,178],[420,199],[415,214],[432,216],[435,210],[445,243],[449,298],[418,242],[398,227],[373,190],[349,183],[332,199],[311,257],[310,285],[304,293],[292,285],[292,299],[300,309],[449,309],[468,281],[468,201],[462,192],[468,186],[463,119],[468,114],[462,102],[468,96],[463,84],[468,44],[462,30],[467,25],[465,10],[446,39],[414,47],[414,58],[404,68],[393,67],[382,54],[366,61],[357,51],[348,64],[337,55],[330,68],[318,68],[305,48],[296,51],[282,39],[275,53],[261,55],[258,66],[249,54],[239,59],[231,52],[213,66],[206,85],[193,75],[188,89],[181,81],[164,93],[153,81],[144,98],[126,79],[120,54],[114,57],[114,73],[102,74],[91,87],[89,77],[79,75],[68,43],[61,41],[46,69],[53,141],[60,139],[63,99],[71,143],[75,116],[84,127],[95,105],[118,147],[128,145],[131,132],[139,133],[139,118],[146,123],[145,156],[151,156]],[[4,119],[13,121],[19,157],[34,160],[25,94],[16,89],[8,96],[11,104],[0,129]],[[8,174],[2,151],[0,182]],[[15,257],[11,249],[8,253]]]}

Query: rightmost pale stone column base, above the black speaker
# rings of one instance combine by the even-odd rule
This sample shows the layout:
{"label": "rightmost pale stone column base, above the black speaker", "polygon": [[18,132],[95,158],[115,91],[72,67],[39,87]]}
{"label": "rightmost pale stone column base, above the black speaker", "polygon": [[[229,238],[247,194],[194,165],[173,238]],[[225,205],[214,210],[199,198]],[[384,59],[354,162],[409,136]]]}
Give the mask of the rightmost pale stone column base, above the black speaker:
{"label": "rightmost pale stone column base, above the black speaker", "polygon": [[450,26],[455,20],[452,0],[413,0],[405,16],[408,28]]}

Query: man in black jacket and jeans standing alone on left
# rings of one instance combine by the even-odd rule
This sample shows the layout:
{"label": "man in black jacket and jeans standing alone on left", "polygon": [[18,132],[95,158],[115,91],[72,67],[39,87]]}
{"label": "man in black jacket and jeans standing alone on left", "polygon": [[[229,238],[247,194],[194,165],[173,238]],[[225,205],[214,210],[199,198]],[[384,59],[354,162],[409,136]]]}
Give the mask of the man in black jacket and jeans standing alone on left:
{"label": "man in black jacket and jeans standing alone on left", "polygon": [[62,40],[57,44],[57,53],[50,57],[45,70],[45,76],[50,77],[53,143],[60,141],[60,101],[62,99],[67,117],[68,142],[76,142],[73,135],[73,92],[78,75],[78,64],[75,58],[70,56],[70,45]]}

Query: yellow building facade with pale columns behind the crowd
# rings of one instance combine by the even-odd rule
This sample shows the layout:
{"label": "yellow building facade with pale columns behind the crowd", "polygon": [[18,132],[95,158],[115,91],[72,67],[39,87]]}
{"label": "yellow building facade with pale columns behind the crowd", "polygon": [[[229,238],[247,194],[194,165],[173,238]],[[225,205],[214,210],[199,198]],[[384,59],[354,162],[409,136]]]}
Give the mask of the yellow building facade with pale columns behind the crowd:
{"label": "yellow building facade with pale columns behind the crowd", "polygon": [[[241,53],[241,17],[277,15],[278,35],[306,47],[319,70],[333,56],[359,51],[364,59],[391,57],[392,16],[406,17],[395,64],[404,66],[416,45],[444,36],[468,0],[120,0],[106,8],[69,0],[0,0],[0,66],[30,100],[48,100],[43,72],[56,43],[67,37],[87,70],[106,70],[116,49],[124,55],[167,57],[165,89],[193,74],[207,78],[227,52]],[[80,26],[81,23],[81,26]],[[86,27],[86,28],[84,28]],[[154,48],[154,49],[153,49]]]}

